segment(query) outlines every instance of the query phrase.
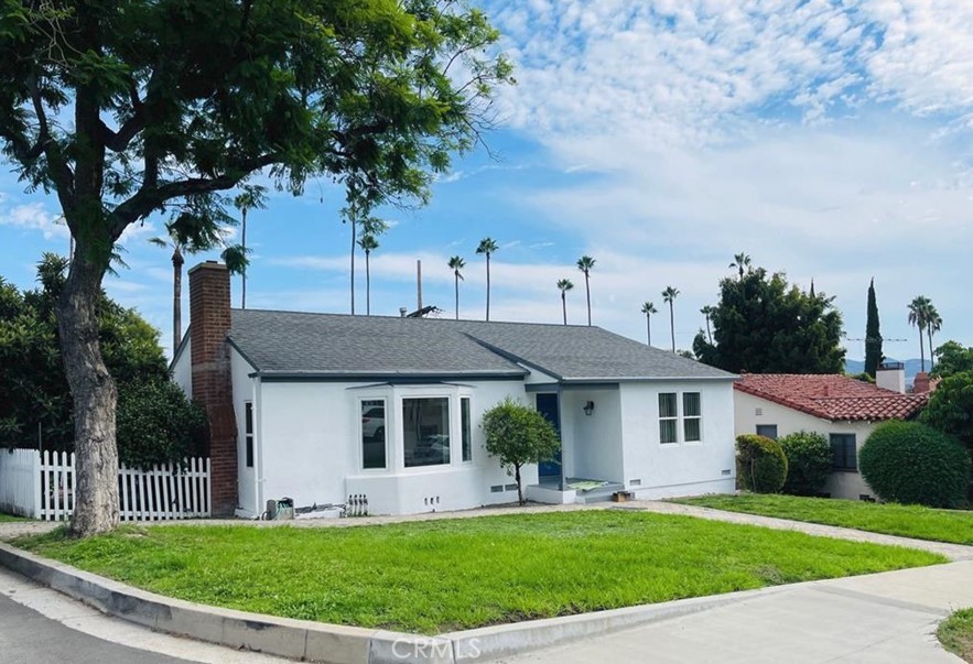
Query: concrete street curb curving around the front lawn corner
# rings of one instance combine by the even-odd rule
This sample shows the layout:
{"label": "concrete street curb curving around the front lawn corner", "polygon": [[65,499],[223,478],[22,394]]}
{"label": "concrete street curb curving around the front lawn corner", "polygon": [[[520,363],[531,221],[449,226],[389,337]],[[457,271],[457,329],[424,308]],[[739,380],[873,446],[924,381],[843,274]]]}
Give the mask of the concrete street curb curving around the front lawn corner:
{"label": "concrete street curb curving around the front lawn corner", "polygon": [[487,662],[788,588],[775,586],[423,636],[278,618],[172,599],[35,556],[3,542],[0,542],[0,565],[105,613],[155,631],[322,664]]}

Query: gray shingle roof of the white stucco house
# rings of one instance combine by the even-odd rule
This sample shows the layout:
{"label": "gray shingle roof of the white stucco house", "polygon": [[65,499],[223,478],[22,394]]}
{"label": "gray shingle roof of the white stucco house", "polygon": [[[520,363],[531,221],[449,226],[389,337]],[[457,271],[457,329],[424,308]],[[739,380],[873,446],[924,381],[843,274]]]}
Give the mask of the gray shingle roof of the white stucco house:
{"label": "gray shingle roof of the white stucco house", "polygon": [[598,327],[231,312],[230,341],[264,374],[523,375],[581,381],[732,374]]}

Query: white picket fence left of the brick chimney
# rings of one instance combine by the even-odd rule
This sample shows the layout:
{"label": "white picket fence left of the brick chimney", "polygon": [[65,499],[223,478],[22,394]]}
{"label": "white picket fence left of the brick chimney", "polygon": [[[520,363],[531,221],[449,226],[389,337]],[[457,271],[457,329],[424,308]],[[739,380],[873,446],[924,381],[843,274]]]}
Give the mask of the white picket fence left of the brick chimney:
{"label": "white picket fence left of the brick chimney", "polygon": [[[209,459],[151,469],[118,470],[122,521],[171,521],[209,516]],[[36,449],[0,449],[0,511],[43,521],[74,512],[75,456]]]}

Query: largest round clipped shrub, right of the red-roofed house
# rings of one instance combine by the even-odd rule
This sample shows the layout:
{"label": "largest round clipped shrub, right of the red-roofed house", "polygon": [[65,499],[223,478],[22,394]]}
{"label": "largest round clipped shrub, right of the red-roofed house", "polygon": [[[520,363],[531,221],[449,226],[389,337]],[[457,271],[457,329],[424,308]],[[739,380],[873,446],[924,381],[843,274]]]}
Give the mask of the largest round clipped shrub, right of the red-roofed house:
{"label": "largest round clipped shrub, right of the red-roofed house", "polygon": [[858,468],[883,498],[955,508],[966,499],[970,453],[959,440],[918,422],[879,424],[858,454]]}

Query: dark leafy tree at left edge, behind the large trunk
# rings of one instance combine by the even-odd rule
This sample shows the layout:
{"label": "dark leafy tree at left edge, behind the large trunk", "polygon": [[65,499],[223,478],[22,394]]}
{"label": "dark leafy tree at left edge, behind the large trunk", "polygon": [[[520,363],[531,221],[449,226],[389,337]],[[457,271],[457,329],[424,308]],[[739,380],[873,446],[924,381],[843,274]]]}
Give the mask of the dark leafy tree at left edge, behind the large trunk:
{"label": "dark leafy tree at left edge, behind the large trunk", "polygon": [[[35,445],[40,424],[45,448],[72,447],[71,393],[54,316],[66,263],[58,255],[44,254],[36,290],[20,292],[0,277],[0,445]],[[112,377],[120,383],[166,381],[159,331],[104,292],[97,309],[101,348]]]}

